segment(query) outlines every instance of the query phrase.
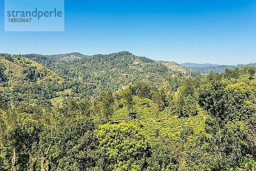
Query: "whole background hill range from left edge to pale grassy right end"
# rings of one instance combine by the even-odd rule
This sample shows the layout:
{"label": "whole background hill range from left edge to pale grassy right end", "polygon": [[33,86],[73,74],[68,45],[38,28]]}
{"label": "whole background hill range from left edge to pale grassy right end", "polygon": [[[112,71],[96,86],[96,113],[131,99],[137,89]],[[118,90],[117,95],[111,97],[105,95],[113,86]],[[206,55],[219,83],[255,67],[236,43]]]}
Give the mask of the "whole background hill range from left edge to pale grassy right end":
{"label": "whole background hill range from left edge to pale grassy right end", "polygon": [[130,52],[0,56],[0,91],[15,106],[56,106],[66,96],[95,97],[101,91],[119,91],[138,81],[155,86],[169,81],[176,90],[179,80],[189,74],[174,62],[154,61]]}

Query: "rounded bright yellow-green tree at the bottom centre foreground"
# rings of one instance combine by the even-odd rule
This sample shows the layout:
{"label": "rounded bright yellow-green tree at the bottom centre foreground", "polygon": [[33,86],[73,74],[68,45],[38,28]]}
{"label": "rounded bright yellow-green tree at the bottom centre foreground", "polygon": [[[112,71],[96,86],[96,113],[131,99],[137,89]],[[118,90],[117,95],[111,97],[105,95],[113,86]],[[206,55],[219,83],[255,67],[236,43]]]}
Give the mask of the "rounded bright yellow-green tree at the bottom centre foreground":
{"label": "rounded bright yellow-green tree at the bottom centre foreground", "polygon": [[99,141],[95,171],[144,171],[149,145],[133,124],[105,124],[95,131]]}

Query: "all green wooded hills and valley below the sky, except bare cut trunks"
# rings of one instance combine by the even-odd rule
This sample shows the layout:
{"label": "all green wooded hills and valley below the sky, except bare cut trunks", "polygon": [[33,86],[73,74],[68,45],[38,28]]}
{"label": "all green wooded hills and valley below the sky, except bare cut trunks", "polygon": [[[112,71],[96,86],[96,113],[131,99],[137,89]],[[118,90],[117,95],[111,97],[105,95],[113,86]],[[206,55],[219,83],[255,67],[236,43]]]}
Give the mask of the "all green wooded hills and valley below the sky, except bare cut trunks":
{"label": "all green wooded hills and valley below the sky, except bare cut trunks", "polygon": [[0,171],[14,149],[18,171],[31,170],[28,151],[41,168],[49,145],[52,171],[256,170],[253,66],[200,73],[129,52],[0,56]]}

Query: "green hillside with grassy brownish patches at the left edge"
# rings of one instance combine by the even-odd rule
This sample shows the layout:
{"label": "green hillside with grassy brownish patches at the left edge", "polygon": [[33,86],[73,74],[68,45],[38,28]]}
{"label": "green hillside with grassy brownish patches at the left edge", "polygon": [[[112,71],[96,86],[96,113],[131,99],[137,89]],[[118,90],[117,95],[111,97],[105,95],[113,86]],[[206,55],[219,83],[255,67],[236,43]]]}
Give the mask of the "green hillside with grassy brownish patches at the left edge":
{"label": "green hillside with grassy brownish patches at the left edge", "polygon": [[0,66],[1,92],[12,105],[49,105],[49,99],[63,91],[63,78],[23,55],[2,55]]}

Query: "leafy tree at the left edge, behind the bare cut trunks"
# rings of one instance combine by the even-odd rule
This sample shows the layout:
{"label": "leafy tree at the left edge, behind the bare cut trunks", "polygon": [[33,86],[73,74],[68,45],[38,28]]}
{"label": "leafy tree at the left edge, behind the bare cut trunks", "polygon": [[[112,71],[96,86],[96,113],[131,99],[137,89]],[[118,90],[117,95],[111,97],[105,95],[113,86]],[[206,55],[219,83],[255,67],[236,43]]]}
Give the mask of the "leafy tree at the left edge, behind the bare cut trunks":
{"label": "leafy tree at the left edge, behind the bare cut trunks", "polygon": [[16,110],[9,109],[0,113],[1,155],[9,160],[12,149],[15,148],[20,158],[17,162],[18,170],[29,170],[28,151],[38,147],[40,133],[44,127],[42,123],[42,110],[38,110],[37,107],[20,106]]}

